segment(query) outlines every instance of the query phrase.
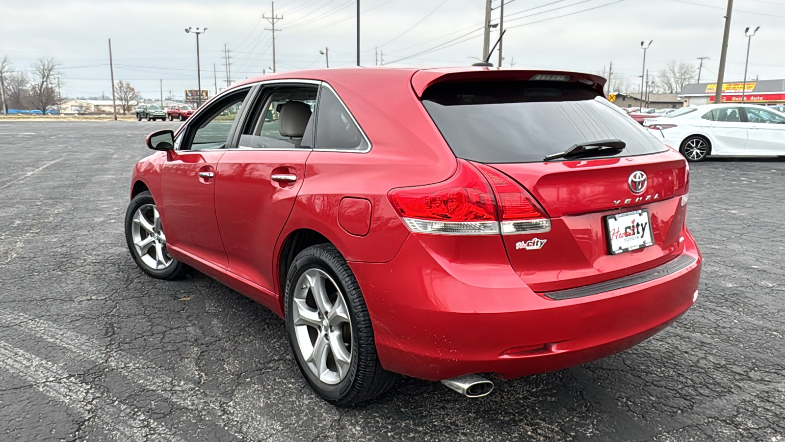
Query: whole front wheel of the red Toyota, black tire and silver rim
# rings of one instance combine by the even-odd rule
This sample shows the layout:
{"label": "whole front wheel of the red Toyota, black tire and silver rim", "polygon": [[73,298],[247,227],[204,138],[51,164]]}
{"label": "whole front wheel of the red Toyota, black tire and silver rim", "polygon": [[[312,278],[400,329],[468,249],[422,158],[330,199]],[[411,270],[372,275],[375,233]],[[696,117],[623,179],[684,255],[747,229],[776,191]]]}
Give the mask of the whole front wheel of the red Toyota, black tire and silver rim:
{"label": "whole front wheel of the red Toyota, black tire and silver rim", "polygon": [[175,279],[188,271],[166,251],[166,234],[150,192],[139,193],[128,204],[126,244],[133,261],[153,278]]}

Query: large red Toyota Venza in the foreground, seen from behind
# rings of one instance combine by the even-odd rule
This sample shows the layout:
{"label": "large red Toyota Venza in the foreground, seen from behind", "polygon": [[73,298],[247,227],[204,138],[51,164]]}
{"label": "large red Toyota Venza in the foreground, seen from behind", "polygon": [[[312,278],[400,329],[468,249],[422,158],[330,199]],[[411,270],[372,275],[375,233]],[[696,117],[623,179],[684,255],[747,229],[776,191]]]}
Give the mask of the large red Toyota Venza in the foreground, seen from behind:
{"label": "large red Toyota Venza in the foreground, seen from behind", "polygon": [[701,256],[687,162],[603,83],[495,68],[248,79],[148,137],[130,252],[155,278],[195,267],[272,309],[337,405],[394,373],[484,396],[478,374],[620,352],[692,306]]}

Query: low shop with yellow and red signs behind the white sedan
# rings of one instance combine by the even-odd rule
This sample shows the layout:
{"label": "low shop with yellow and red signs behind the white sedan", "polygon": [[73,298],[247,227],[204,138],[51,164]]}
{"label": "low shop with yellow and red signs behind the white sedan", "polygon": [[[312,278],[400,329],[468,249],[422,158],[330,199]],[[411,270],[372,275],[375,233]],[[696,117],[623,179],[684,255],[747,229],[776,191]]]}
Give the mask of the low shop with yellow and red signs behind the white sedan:
{"label": "low shop with yellow and red signs behind the white sedan", "polygon": [[[742,90],[744,93],[742,94]],[[679,97],[688,105],[709,105],[714,103],[717,83],[688,84],[681,90]],[[761,79],[743,82],[728,82],[722,85],[723,103],[740,103],[742,95],[745,102],[757,105],[785,105],[785,79]]]}

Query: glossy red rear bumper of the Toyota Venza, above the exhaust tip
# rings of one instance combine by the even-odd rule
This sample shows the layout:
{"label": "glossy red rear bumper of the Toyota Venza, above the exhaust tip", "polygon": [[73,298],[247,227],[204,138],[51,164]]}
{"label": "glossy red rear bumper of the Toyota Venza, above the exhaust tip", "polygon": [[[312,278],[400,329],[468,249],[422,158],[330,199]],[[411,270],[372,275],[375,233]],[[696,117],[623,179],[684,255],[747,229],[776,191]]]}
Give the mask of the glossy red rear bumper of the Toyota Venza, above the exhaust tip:
{"label": "glossy red rear bumper of the Toyota Venza, above the exhaust tip", "polygon": [[[494,247],[492,238],[478,241]],[[389,263],[351,266],[385,369],[433,381],[471,373],[517,378],[621,352],[674,322],[694,302],[702,261],[688,232],[684,244],[692,259],[680,270],[564,300],[532,292],[503,249],[503,263],[458,264],[414,234]]]}

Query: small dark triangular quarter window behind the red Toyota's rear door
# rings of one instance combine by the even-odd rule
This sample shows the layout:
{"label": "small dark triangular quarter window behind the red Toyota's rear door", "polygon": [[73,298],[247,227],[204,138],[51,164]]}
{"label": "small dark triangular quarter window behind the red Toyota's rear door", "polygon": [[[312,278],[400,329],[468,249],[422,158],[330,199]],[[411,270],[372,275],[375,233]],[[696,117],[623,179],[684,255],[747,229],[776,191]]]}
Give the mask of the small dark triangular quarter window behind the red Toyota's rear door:
{"label": "small dark triangular quarter window behind the red Toyota's rear door", "polygon": [[327,87],[319,94],[316,149],[366,150],[370,147],[338,97]]}

